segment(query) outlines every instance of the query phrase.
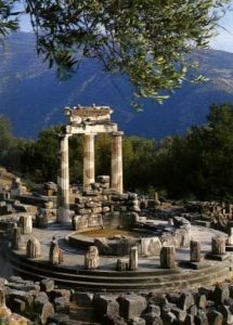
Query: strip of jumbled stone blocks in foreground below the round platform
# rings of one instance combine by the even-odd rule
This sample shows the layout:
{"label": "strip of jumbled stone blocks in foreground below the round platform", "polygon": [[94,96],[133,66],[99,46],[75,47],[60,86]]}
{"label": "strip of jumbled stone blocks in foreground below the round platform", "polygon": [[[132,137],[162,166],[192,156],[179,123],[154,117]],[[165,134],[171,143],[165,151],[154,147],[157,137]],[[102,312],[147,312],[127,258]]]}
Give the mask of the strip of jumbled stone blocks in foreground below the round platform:
{"label": "strip of jumbled stone blocks in foreground below the round platform", "polygon": [[61,289],[52,280],[0,278],[3,324],[233,324],[233,285],[172,294],[91,294]]}

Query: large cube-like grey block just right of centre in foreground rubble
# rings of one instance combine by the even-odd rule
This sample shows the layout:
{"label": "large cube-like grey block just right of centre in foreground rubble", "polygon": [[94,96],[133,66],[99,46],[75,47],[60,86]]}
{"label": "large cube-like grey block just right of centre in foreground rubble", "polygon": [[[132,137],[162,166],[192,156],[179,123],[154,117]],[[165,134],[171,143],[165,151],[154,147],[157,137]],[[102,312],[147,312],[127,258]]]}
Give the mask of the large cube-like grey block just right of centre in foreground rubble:
{"label": "large cube-like grey block just right of centre in foreground rubble", "polygon": [[146,299],[138,295],[127,295],[117,299],[119,302],[119,314],[124,318],[141,316],[146,308]]}

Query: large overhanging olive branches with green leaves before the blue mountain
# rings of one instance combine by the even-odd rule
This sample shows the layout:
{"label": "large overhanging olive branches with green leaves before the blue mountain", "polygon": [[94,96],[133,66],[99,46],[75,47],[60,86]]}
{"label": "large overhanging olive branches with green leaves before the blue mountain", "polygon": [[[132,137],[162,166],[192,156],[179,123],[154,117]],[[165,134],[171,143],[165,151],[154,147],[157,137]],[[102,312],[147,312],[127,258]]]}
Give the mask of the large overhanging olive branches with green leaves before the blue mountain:
{"label": "large overhanging olive branches with green leaves before the blue mountain", "polygon": [[[37,50],[64,77],[82,56],[126,74],[135,98],[158,102],[195,66],[186,53],[208,44],[215,9],[230,0],[25,0]],[[192,79],[192,78],[191,78]],[[197,77],[202,80],[202,76]]]}

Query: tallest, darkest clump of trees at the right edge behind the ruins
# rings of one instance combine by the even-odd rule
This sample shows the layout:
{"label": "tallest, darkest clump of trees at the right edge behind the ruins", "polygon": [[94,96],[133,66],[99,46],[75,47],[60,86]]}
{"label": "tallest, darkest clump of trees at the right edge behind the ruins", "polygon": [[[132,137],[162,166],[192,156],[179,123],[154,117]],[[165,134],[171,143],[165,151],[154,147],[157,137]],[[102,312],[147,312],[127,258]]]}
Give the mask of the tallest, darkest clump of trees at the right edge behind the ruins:
{"label": "tallest, darkest clump of trees at the right edge behind the ruins", "polygon": [[233,106],[212,105],[208,123],[174,136],[157,153],[157,186],[173,197],[233,198]]}

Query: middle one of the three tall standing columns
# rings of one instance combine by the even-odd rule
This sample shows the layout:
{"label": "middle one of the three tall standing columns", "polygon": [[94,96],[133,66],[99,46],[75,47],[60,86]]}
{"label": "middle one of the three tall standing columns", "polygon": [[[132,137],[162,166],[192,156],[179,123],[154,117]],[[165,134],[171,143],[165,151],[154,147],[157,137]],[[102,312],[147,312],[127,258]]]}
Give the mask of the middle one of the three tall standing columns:
{"label": "middle one of the three tall standing columns", "polygon": [[94,135],[83,134],[83,191],[94,183]]}

